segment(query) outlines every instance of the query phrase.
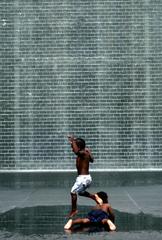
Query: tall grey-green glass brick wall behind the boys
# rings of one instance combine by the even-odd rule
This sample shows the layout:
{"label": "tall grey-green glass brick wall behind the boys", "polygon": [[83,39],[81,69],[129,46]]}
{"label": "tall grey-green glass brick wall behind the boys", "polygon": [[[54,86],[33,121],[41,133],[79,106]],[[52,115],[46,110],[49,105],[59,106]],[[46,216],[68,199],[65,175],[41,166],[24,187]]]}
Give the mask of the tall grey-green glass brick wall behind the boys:
{"label": "tall grey-green glass brick wall behind the boys", "polygon": [[162,1],[0,1],[0,169],[162,168]]}

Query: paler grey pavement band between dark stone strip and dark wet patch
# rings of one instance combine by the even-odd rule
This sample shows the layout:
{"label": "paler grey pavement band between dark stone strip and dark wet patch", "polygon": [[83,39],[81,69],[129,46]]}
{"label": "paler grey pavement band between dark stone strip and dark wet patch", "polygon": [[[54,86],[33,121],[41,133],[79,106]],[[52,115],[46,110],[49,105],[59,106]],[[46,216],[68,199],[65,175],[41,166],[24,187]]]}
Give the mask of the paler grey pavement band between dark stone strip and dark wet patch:
{"label": "paler grey pavement band between dark stone strip and dark wet patch", "polygon": [[[105,191],[114,209],[127,213],[145,213],[162,217],[162,185],[90,187],[90,192]],[[70,204],[70,188],[0,187],[0,213],[15,207],[57,206]],[[78,205],[93,206],[91,199],[79,197]],[[66,215],[66,213],[65,213]]]}

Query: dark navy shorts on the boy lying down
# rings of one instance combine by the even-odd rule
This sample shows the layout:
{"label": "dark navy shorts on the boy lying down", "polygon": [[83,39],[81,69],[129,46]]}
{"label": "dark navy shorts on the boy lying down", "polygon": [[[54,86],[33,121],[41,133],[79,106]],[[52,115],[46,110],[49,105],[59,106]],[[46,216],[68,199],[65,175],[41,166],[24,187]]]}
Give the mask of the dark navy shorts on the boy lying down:
{"label": "dark navy shorts on the boy lying down", "polygon": [[87,218],[91,223],[100,223],[103,219],[108,219],[109,215],[100,209],[96,209],[90,211]]}

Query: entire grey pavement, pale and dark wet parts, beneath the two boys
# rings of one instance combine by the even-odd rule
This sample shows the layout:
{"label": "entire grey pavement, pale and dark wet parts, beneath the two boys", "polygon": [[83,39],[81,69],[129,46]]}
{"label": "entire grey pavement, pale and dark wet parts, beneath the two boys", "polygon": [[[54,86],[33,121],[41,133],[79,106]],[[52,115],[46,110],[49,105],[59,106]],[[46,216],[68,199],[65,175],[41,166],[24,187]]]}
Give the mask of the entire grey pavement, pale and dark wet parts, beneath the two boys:
{"label": "entire grey pavement, pale and dark wet parts, beneath the two boys", "polygon": [[[65,232],[70,188],[0,187],[0,239],[154,239],[162,237],[162,185],[91,187],[106,191],[116,215],[117,231],[79,229]],[[78,216],[94,206],[78,198]]]}

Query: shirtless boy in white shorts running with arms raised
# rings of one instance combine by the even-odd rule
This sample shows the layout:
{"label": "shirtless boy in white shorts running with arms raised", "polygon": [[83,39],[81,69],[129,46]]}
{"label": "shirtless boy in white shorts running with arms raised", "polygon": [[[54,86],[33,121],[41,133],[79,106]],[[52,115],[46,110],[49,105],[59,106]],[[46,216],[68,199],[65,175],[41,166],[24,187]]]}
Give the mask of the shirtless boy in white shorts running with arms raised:
{"label": "shirtless boy in white shorts running with arms raised", "polygon": [[97,203],[102,200],[94,194],[85,191],[91,184],[92,178],[89,174],[89,163],[93,163],[94,159],[91,151],[86,147],[85,141],[82,138],[68,137],[73,152],[76,157],[76,169],[78,177],[71,189],[71,212],[69,217],[74,216],[77,211],[77,194],[95,200]]}

